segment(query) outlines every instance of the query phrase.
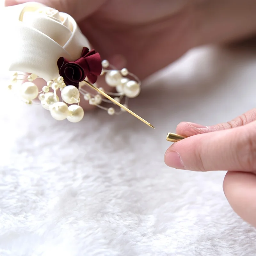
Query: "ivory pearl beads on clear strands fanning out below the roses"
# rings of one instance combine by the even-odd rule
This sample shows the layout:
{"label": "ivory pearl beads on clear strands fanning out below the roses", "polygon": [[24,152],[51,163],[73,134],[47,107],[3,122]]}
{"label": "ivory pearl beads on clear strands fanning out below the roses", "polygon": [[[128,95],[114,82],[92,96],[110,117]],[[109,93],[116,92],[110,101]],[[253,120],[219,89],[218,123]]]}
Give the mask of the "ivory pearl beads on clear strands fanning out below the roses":
{"label": "ivory pearl beads on clear strands fanning out below the roses", "polygon": [[[117,70],[111,66],[108,60],[102,61],[101,76],[105,75],[106,84],[116,89],[116,92],[105,92],[103,88],[99,88],[100,91],[107,93],[118,103],[124,101],[122,104],[128,108],[129,98],[135,98],[140,94],[141,83],[139,79],[131,74],[126,68]],[[21,76],[21,77],[20,77]],[[132,77],[129,79],[128,77]],[[106,99],[100,93],[92,94],[85,90],[86,83],[81,82],[79,89],[73,85],[66,85],[63,77],[59,76],[51,81],[48,81],[39,92],[38,86],[34,81],[39,78],[35,74],[24,75],[15,72],[12,76],[11,83],[7,86],[9,90],[14,87],[17,89],[21,99],[27,104],[32,105],[33,100],[38,99],[43,108],[49,110],[51,116],[62,121],[67,119],[69,122],[76,123],[83,119],[84,110],[79,106],[80,94],[83,95],[83,99],[88,101],[90,105],[97,106],[103,110],[106,110],[108,115],[118,115],[125,112],[123,108],[120,111],[116,111],[115,103]],[[18,84],[18,81],[27,80],[28,82]],[[87,81],[87,80],[86,80]],[[96,87],[97,85],[94,84]],[[57,93],[60,91],[60,93]],[[59,96],[61,96],[61,100]],[[102,103],[114,104],[113,107],[104,107]]]}

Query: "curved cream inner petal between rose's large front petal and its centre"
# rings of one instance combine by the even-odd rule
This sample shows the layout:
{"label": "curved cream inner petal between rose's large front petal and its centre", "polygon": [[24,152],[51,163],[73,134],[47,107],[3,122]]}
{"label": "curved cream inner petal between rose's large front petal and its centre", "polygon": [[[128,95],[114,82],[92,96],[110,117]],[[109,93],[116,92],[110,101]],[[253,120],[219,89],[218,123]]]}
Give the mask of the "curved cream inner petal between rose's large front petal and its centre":
{"label": "curved cream inner petal between rose's large front petal and its centre", "polygon": [[38,15],[35,12],[24,13],[22,22],[29,27],[41,31],[62,47],[72,35],[72,32],[60,24],[60,22],[57,22],[44,15]]}

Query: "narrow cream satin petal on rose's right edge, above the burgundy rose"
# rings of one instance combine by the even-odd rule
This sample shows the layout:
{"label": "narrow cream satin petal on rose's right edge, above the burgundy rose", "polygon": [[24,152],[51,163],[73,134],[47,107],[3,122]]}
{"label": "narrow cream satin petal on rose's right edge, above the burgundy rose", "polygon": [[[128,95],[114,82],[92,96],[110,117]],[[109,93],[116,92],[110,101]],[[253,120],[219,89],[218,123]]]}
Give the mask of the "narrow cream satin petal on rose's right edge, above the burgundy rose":
{"label": "narrow cream satin petal on rose's right edge, above the burgundy rose", "polygon": [[81,30],[76,24],[76,21],[66,13],[60,13],[62,17],[67,16],[69,22],[72,24],[73,33],[68,42],[64,45],[64,49],[72,56],[73,60],[81,56],[83,47],[91,48],[87,38],[82,34]]}

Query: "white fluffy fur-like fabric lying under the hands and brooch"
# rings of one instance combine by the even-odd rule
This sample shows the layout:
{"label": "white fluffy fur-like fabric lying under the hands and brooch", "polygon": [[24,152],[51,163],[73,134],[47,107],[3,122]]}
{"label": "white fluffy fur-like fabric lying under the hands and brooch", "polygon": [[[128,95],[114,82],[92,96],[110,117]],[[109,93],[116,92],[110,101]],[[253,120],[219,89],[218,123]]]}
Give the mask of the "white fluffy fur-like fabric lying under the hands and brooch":
{"label": "white fluffy fur-like fabric lying under the hands and brooch", "polygon": [[212,125],[254,108],[255,70],[250,49],[188,52],[131,101],[156,130],[128,113],[54,121],[4,94],[2,76],[0,255],[254,256],[255,229],[229,206],[225,172],[163,158],[180,121]]}

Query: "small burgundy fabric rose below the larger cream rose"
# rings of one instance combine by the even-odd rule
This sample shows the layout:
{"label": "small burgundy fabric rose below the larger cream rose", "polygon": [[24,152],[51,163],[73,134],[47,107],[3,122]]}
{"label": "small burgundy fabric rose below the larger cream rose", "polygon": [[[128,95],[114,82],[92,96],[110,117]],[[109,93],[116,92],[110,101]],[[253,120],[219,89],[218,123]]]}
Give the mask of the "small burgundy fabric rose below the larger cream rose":
{"label": "small burgundy fabric rose below the larger cream rose", "polygon": [[95,50],[89,51],[86,47],[83,48],[81,57],[78,60],[68,61],[60,57],[57,65],[64,83],[66,85],[74,85],[77,88],[78,84],[84,81],[86,76],[94,84],[102,70],[100,54]]}

